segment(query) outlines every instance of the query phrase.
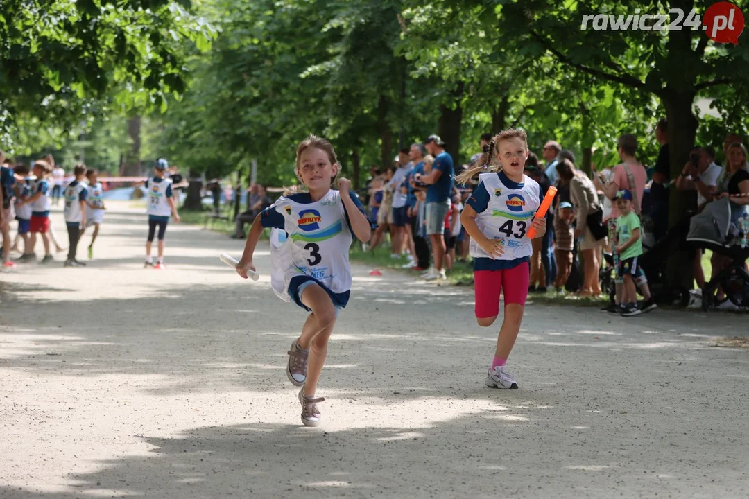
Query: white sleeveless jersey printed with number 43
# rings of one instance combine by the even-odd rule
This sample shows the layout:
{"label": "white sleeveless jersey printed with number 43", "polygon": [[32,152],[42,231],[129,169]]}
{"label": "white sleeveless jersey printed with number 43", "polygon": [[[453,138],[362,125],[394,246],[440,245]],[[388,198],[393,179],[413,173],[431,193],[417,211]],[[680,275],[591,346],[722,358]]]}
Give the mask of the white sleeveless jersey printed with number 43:
{"label": "white sleeveless jersey printed with number 43", "polygon": [[[489,239],[502,241],[505,252],[501,260],[530,257],[533,247],[527,233],[533,215],[541,205],[539,183],[525,176],[520,189],[510,189],[496,172],[480,174],[479,182],[489,194],[486,209],[476,217],[479,229]],[[473,238],[470,240],[470,256],[491,258]]]}

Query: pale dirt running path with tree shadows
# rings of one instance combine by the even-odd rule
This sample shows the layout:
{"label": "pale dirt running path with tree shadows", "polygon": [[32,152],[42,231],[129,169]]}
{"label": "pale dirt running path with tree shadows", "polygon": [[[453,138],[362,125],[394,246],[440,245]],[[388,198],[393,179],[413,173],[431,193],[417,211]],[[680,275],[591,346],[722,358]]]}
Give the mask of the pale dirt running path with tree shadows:
{"label": "pale dirt running path with tree shadows", "polygon": [[283,373],[304,313],[270,291],[267,246],[252,284],[217,258],[240,242],[167,238],[143,269],[145,216],[122,208],[87,268],[0,275],[0,497],[749,494],[749,352],[710,339],[746,316],[530,304],[521,390],[497,391],[472,290],[357,267],[309,429]]}

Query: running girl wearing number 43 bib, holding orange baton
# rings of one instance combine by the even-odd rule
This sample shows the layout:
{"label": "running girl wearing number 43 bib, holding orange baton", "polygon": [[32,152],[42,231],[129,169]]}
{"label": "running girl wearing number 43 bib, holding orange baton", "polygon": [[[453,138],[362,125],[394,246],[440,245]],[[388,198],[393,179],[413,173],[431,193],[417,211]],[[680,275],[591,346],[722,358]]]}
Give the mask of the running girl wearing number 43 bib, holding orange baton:
{"label": "running girl wearing number 43 bib, holding orange baton", "polygon": [[528,296],[533,248],[527,233],[530,227],[536,229],[536,238],[546,232],[545,218],[534,219],[541,205],[541,186],[523,173],[527,157],[525,132],[504,130],[494,136],[473,168],[456,177],[458,183],[478,184],[466,202],[461,223],[470,235],[480,326],[494,324],[500,312],[500,293],[504,296],[502,327],[485,384],[505,390],[518,388],[506,364]]}

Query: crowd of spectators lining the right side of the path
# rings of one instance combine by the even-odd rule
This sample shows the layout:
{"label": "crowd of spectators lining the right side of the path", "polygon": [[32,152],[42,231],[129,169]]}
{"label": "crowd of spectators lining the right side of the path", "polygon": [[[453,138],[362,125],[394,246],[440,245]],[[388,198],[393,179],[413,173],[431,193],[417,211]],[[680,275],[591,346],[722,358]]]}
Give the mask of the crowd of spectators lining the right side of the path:
{"label": "crowd of spectators lining the right side of the path", "polygon": [[[564,150],[554,140],[542,149],[543,164],[530,152],[526,174],[536,180],[545,195],[549,187],[558,189],[553,209],[547,215],[546,235],[533,241],[530,264],[530,292],[576,293],[581,298],[601,295],[599,275],[607,266],[606,258],[616,254],[616,220],[621,213],[614,200],[618,192],[631,192],[631,206],[643,222],[641,238],[644,248],[667,235],[669,230],[669,199],[674,189],[694,190],[697,209],[721,196],[748,194],[749,167],[746,163],[742,137],[731,134],[724,144],[727,167],[716,163],[715,151],[695,147],[682,174],[672,179],[666,120],[655,127],[655,141],[660,144],[658,158],[652,168],[637,159],[638,141],[634,135],[619,138],[616,151],[618,164],[591,174],[578,168],[574,153]],[[486,150],[492,135],[479,139]],[[460,212],[470,196],[470,186],[453,181],[460,168],[444,150],[437,135],[423,143],[401,150],[393,165],[384,171],[373,167],[367,185],[368,206],[378,227],[369,249],[390,241],[393,258],[405,255],[405,268],[424,272],[428,280],[446,278],[446,270],[455,261],[465,260],[469,238],[460,227]],[[475,162],[481,152],[473,155]],[[749,177],[747,177],[749,178]],[[749,198],[732,198],[746,206]],[[685,214],[687,216],[687,214]],[[712,272],[726,265],[724,257],[714,255]],[[698,287],[705,284],[702,254],[694,256],[694,275]],[[620,277],[620,276],[619,276]],[[616,303],[607,307],[618,311],[622,303],[622,279],[616,280]],[[643,296],[640,309],[655,308],[646,275],[640,269],[635,276]]]}

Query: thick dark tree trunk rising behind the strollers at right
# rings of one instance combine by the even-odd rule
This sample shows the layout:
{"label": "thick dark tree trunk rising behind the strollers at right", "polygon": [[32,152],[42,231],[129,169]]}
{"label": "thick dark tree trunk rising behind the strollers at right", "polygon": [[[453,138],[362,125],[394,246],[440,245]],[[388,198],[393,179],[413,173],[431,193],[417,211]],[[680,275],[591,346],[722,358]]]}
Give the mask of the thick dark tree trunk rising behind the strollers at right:
{"label": "thick dark tree trunk rising behind the strollers at right", "polygon": [[[662,96],[666,117],[668,119],[668,150],[670,154],[671,179],[676,180],[689,159],[697,135],[697,118],[692,112],[695,97],[694,91],[670,91],[666,89]],[[694,194],[688,191],[671,189],[669,195],[669,227],[673,227],[693,211]],[[679,284],[688,290],[694,280],[693,266],[689,254],[676,251],[671,254],[667,265],[667,278],[671,284]]]}

